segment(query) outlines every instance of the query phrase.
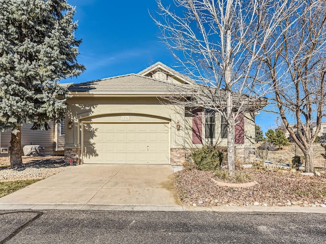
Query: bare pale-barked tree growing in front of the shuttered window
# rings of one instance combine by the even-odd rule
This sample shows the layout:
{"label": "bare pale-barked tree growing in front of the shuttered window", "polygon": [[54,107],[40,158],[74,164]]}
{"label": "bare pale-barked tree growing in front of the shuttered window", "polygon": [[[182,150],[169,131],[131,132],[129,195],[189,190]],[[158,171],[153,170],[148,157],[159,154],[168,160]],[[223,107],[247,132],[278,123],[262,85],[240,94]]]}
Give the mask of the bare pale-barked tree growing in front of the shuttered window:
{"label": "bare pale-barked tree growing in front of the shuttered window", "polygon": [[261,57],[271,52],[264,43],[300,4],[284,0],[174,0],[169,7],[157,0],[157,4],[159,11],[153,18],[161,29],[161,40],[183,67],[183,74],[201,84],[191,99],[182,90],[183,99],[171,100],[223,114],[228,168],[233,174],[236,121],[264,106],[261,98],[270,89],[261,82],[266,75]]}

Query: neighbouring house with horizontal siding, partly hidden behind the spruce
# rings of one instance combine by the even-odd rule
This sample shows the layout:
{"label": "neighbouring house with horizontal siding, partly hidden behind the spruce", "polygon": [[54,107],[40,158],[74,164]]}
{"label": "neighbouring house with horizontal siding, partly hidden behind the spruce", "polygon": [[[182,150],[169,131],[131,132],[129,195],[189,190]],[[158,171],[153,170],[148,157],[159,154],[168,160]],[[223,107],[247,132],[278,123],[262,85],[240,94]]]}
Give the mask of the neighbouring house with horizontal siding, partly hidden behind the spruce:
{"label": "neighbouring house with horizontal siding, partly hidden behind the spruce", "polygon": [[[21,147],[25,145],[40,145],[41,155],[63,155],[65,143],[65,122],[56,124],[50,121],[47,131],[31,130],[32,124],[23,124],[21,127]],[[6,155],[10,153],[11,131],[0,132],[0,151]]]}

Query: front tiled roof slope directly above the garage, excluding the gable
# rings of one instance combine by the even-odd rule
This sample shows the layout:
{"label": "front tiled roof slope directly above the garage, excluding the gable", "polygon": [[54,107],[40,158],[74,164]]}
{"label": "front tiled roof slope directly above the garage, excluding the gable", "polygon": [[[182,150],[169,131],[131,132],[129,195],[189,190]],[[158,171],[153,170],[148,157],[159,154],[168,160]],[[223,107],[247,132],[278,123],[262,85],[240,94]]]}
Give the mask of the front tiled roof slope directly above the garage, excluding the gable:
{"label": "front tiled roof slope directly above the garage, excluding the gable", "polygon": [[[138,74],[128,74],[73,84],[69,86],[68,90],[72,94],[160,96],[172,95],[169,84],[169,82]],[[181,86],[180,83],[179,88]]]}

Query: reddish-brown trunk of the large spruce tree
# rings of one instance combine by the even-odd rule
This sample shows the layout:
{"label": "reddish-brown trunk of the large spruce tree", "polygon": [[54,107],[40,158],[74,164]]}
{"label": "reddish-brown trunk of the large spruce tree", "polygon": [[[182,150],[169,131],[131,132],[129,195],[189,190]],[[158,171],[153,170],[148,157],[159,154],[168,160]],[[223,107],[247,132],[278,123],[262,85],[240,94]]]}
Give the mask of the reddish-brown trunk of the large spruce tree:
{"label": "reddish-brown trunk of the large spruce tree", "polygon": [[19,131],[16,135],[11,133],[10,165],[11,168],[22,168],[21,127],[17,126],[16,130]]}

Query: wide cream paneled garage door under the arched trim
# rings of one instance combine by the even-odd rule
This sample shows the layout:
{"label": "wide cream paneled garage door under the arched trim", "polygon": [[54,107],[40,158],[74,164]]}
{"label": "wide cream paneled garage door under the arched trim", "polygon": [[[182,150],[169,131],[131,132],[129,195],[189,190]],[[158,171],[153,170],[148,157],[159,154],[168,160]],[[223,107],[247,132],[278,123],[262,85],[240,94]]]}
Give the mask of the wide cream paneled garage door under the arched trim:
{"label": "wide cream paneled garage door under the arched trim", "polygon": [[84,124],[84,163],[169,163],[169,124]]}

